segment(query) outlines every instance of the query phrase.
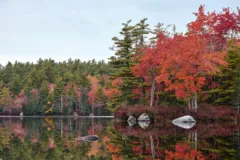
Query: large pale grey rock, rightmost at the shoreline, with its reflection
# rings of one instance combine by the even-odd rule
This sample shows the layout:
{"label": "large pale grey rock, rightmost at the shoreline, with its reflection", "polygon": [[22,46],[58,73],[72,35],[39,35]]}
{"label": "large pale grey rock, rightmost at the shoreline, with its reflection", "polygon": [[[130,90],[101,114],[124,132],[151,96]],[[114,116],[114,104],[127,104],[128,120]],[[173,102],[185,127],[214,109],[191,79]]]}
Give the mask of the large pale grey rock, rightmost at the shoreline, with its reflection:
{"label": "large pale grey rock, rightmost at the shoreline, with its reflection", "polygon": [[196,120],[192,116],[183,116],[179,117],[177,119],[174,119],[172,123],[178,127],[184,128],[184,129],[190,129],[196,124]]}

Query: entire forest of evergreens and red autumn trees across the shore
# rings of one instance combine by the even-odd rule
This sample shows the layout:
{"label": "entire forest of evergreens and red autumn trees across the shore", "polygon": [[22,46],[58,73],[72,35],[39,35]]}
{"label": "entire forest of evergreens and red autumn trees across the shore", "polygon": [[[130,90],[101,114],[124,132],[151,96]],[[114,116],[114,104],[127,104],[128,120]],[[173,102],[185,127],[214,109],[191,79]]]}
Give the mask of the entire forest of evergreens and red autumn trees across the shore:
{"label": "entire forest of evergreens and red autumn trees across the shore", "polygon": [[240,9],[206,12],[185,33],[147,18],[122,23],[108,62],[69,59],[0,65],[0,113],[110,115],[136,104],[240,109]]}

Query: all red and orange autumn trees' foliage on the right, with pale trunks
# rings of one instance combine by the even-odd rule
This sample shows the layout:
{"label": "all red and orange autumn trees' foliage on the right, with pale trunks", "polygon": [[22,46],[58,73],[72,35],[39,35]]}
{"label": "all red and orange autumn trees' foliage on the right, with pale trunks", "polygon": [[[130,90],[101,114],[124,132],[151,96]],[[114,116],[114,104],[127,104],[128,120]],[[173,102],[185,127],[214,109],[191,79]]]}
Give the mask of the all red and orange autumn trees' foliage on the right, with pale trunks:
{"label": "all red and orange autumn trees' foliage on the right, with pale trunks", "polygon": [[227,42],[238,38],[239,13],[224,8],[218,14],[205,14],[200,6],[186,34],[159,32],[156,44],[143,48],[143,56],[132,67],[134,75],[151,81],[151,93],[155,85],[163,83],[164,90],[174,91],[177,98],[193,100],[190,105],[196,109],[196,93],[205,85],[205,77],[214,76],[219,66],[227,65]]}

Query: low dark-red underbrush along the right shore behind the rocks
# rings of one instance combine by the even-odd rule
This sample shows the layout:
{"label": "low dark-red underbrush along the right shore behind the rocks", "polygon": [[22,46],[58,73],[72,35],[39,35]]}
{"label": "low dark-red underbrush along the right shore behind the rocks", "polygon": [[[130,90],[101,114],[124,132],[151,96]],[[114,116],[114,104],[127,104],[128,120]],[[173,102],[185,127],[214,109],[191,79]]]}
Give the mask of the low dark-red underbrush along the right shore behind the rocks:
{"label": "low dark-red underbrush along the right shore behind the rocks", "polygon": [[238,111],[231,108],[231,106],[211,106],[208,104],[199,105],[197,112],[189,110],[187,106],[122,106],[115,111],[114,117],[127,120],[130,115],[137,118],[142,113],[147,113],[154,121],[173,120],[184,115],[191,115],[199,121],[236,121],[240,118]]}

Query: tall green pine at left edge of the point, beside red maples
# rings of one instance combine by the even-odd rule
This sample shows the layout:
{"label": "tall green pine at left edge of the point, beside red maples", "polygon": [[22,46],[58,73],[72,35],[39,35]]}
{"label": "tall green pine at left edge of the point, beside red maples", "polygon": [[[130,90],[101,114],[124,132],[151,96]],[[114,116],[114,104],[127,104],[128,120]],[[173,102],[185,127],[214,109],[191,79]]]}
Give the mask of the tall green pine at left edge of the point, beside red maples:
{"label": "tall green pine at left edge of the point, beside red maples", "polygon": [[[114,37],[114,49],[116,49],[115,56],[110,58],[110,66],[113,68],[113,73],[111,74],[111,80],[116,78],[123,79],[123,85],[119,88],[122,95],[116,97],[114,102],[111,105],[119,104],[131,104],[132,103],[132,89],[133,89],[133,80],[135,77],[131,73],[132,66],[132,55],[133,55],[133,37],[132,30],[134,26],[130,25],[131,20],[127,23],[123,23],[122,31],[120,35],[122,38]],[[110,104],[110,103],[109,103]],[[109,106],[109,107],[112,107]]]}

